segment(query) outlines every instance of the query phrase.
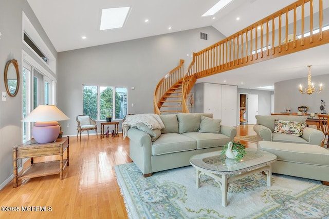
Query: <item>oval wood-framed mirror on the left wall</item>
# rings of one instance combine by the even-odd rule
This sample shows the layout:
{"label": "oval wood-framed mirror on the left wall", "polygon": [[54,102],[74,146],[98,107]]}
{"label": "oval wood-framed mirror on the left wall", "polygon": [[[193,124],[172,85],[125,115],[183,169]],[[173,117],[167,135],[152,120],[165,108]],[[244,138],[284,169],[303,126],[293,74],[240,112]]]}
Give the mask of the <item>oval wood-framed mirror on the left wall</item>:
{"label": "oval wood-framed mirror on the left wall", "polygon": [[12,59],[6,64],[5,86],[9,96],[16,96],[20,87],[20,71],[19,64],[16,59]]}

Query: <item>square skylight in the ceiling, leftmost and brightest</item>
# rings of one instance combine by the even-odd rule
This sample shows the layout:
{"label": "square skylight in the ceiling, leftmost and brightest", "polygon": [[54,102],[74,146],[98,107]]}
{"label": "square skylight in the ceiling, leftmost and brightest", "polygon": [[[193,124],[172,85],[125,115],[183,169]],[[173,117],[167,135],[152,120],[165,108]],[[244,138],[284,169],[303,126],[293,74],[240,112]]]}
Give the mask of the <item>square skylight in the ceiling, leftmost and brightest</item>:
{"label": "square skylight in the ceiling, leftmost and brightest", "polygon": [[101,25],[99,30],[123,27],[129,10],[130,7],[102,9]]}

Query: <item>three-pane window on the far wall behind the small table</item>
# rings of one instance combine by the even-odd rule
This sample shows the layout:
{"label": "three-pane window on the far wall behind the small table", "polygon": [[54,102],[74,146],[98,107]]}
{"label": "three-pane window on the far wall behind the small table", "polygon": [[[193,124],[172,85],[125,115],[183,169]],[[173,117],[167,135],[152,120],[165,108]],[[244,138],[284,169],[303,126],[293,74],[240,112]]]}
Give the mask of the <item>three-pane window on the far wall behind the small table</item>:
{"label": "three-pane window on the far wall behind the small table", "polygon": [[[99,95],[98,95],[99,94]],[[127,114],[127,88],[83,86],[83,114],[94,120],[122,119]]]}

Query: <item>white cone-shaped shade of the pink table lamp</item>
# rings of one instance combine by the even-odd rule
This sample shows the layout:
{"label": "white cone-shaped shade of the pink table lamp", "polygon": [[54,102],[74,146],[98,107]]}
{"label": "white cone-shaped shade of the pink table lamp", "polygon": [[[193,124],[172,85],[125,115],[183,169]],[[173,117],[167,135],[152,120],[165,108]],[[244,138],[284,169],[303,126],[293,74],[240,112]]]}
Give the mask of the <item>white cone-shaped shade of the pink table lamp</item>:
{"label": "white cone-shaped shade of the pink table lamp", "polygon": [[55,105],[39,105],[22,122],[48,122],[69,120]]}

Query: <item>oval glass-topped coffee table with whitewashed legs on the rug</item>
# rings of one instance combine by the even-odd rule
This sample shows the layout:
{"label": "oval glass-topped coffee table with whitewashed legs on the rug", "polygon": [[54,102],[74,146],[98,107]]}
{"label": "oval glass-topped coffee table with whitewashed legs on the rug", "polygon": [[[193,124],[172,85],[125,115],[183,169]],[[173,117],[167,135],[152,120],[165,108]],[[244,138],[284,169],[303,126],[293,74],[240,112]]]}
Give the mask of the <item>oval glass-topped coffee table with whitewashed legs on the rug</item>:
{"label": "oval glass-topped coffee table with whitewashed legs on the rug", "polygon": [[196,186],[200,187],[200,176],[206,174],[220,184],[222,205],[227,206],[227,191],[229,183],[240,178],[264,171],[267,175],[267,186],[271,186],[271,163],[277,161],[277,156],[266,151],[246,148],[246,156],[235,161],[221,155],[221,151],[213,151],[194,155],[190,163],[196,168]]}

